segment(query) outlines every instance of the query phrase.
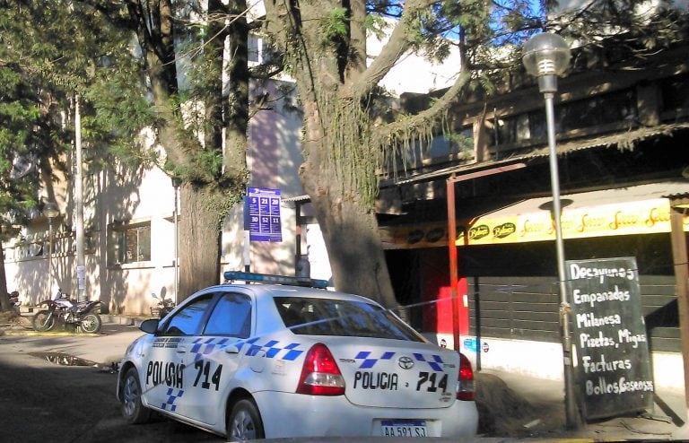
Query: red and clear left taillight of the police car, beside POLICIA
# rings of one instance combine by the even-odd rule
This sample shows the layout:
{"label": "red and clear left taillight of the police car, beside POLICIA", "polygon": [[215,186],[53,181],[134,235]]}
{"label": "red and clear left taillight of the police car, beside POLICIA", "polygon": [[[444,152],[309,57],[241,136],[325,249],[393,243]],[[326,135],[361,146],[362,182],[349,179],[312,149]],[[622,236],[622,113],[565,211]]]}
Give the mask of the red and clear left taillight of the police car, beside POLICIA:
{"label": "red and clear left taillight of the police car, beside POLICIA", "polygon": [[297,394],[345,394],[345,378],[342,377],[333,354],[325,344],[316,343],[307,352],[304,367],[301,369]]}

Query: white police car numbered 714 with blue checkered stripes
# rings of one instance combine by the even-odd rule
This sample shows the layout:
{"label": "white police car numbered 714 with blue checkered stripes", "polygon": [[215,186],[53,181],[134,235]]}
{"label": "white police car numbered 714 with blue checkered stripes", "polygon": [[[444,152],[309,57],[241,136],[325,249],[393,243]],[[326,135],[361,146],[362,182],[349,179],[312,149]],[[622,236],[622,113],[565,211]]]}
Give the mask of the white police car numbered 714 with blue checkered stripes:
{"label": "white police car numbered 714 with blue checkered stripes", "polygon": [[206,288],[144,321],[118,374],[126,421],[155,411],[231,440],[475,435],[466,357],[369,299],[280,282]]}

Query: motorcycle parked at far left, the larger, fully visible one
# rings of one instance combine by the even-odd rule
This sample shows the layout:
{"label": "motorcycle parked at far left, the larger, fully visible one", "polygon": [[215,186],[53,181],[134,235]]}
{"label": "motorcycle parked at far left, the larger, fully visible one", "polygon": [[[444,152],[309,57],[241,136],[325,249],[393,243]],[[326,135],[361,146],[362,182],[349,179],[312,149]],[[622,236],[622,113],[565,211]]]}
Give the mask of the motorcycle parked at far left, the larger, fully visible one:
{"label": "motorcycle parked at far left, the larger, fully visible one", "polygon": [[82,331],[96,334],[100,331],[102,320],[94,308],[100,305],[100,301],[79,301],[75,304],[69,300],[69,294],[57,290],[52,300],[43,300],[40,305],[46,305],[47,309],[39,310],[33,316],[33,328],[37,331],[49,331],[57,322],[67,326],[81,327]]}

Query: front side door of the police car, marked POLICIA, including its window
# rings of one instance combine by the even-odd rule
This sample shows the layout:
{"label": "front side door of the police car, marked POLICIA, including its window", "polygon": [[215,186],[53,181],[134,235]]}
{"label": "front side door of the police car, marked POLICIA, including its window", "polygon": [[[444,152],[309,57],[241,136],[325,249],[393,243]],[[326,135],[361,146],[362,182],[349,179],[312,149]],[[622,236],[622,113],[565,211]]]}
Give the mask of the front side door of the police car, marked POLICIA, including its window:
{"label": "front side door of the police car, marked POLICIA, including its window", "polygon": [[151,406],[166,413],[188,415],[188,359],[213,294],[189,301],[175,312],[156,334],[153,347],[144,356],[144,391]]}

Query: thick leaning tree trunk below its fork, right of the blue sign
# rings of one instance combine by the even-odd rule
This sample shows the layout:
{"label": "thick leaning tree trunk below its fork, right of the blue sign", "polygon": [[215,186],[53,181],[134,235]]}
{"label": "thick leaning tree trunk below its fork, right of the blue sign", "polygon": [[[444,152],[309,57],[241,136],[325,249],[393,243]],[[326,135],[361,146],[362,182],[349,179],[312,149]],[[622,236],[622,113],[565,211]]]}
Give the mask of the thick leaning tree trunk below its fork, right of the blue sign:
{"label": "thick leaning tree trunk below its fork, right of the blue sign", "polygon": [[[336,95],[321,102],[329,100],[337,102]],[[304,107],[303,150],[307,160],[300,169],[301,184],[310,195],[323,232],[335,287],[396,308],[376,214],[361,189],[353,184],[357,180],[353,176],[359,171],[345,166],[352,158],[358,158],[359,153],[366,152],[362,144],[367,141],[357,132],[356,117],[345,113],[342,118],[321,118],[324,109],[319,109],[318,103],[312,100],[305,100]],[[352,138],[348,141],[339,138],[337,134],[343,132]],[[336,146],[338,143],[344,144]],[[342,158],[338,164],[334,164],[332,150],[340,150],[338,155]]]}

